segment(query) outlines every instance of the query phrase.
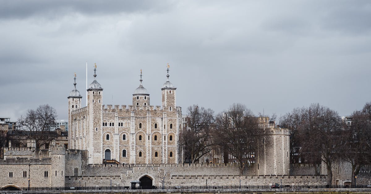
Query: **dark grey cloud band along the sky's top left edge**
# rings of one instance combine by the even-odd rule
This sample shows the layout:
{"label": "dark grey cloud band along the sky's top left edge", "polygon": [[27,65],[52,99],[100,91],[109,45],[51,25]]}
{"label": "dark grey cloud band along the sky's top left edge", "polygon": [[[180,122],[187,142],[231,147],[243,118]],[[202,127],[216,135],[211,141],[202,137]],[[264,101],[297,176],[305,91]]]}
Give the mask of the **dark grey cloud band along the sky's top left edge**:
{"label": "dark grey cloud band along the sky's top left edge", "polygon": [[87,15],[103,15],[115,13],[160,12],[168,9],[167,1],[91,1],[91,0],[1,0],[0,18],[24,19],[26,17],[49,17],[55,19],[65,14],[81,13]]}

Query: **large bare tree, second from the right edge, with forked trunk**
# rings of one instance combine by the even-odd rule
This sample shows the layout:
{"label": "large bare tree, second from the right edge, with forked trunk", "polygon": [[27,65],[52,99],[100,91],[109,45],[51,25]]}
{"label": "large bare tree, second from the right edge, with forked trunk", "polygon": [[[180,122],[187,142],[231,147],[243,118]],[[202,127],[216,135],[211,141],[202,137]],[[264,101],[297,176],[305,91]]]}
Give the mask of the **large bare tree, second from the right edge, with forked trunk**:
{"label": "large bare tree, second from the right edge, with forked trunk", "polygon": [[328,107],[311,104],[303,108],[303,121],[298,126],[301,154],[306,158],[321,158],[327,169],[327,183],[332,183],[332,162],[339,157],[345,143],[342,120]]}

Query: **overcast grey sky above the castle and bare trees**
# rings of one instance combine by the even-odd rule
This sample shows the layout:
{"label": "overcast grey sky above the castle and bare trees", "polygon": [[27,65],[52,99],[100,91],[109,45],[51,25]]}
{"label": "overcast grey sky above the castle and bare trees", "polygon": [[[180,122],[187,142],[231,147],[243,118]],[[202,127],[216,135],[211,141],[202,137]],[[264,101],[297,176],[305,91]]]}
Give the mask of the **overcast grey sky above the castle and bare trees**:
{"label": "overcast grey sky above the castle and bare trees", "polygon": [[0,0],[0,116],[40,104],[67,119],[73,73],[104,104],[131,104],[143,69],[161,105],[166,63],[177,106],[232,103],[278,116],[319,103],[345,116],[371,101],[370,1]]}

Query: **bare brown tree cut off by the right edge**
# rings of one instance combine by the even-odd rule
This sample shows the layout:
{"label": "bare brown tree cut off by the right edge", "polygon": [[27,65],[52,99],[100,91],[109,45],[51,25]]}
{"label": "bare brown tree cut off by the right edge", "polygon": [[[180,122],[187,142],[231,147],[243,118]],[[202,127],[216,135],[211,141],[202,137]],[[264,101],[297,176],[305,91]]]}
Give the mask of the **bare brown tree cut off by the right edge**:
{"label": "bare brown tree cut off by the right edge", "polygon": [[351,125],[345,125],[345,131],[347,140],[341,153],[352,166],[352,185],[355,185],[355,176],[371,161],[371,103],[352,114]]}

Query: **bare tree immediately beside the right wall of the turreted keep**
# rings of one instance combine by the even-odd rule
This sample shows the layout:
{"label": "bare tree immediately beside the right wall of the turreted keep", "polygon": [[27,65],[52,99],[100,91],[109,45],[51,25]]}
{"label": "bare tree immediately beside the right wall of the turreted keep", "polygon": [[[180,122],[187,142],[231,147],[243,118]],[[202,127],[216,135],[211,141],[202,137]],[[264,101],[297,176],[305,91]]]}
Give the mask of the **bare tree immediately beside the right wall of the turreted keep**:
{"label": "bare tree immediately beside the right wall of the turreted keep", "polygon": [[197,162],[212,149],[211,127],[214,124],[214,111],[198,105],[189,106],[185,122],[187,127],[180,133],[180,144],[185,159]]}

